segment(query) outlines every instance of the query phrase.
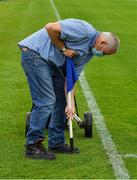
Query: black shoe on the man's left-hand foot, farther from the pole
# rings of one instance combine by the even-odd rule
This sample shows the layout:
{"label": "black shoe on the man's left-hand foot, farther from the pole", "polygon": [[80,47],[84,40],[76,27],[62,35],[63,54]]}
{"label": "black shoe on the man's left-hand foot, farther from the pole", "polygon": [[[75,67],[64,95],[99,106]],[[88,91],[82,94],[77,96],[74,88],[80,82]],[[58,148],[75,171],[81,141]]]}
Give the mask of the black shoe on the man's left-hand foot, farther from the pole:
{"label": "black shoe on the man's left-hand foot, farther from the pole", "polygon": [[32,145],[25,145],[25,146],[26,146],[25,157],[27,158],[45,159],[45,160],[56,159],[55,154],[52,152],[48,152],[41,142]]}

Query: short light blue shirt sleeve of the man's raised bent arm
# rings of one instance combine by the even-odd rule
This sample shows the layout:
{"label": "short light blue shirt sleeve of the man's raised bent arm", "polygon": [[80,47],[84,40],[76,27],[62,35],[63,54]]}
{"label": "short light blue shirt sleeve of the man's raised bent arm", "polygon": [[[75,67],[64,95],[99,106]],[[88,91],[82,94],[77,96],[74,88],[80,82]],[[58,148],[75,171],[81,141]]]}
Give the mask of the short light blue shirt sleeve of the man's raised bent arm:
{"label": "short light blue shirt sleeve of the man's raised bent arm", "polygon": [[59,21],[61,25],[60,39],[68,42],[79,42],[89,37],[90,25],[84,21],[76,19],[66,19]]}

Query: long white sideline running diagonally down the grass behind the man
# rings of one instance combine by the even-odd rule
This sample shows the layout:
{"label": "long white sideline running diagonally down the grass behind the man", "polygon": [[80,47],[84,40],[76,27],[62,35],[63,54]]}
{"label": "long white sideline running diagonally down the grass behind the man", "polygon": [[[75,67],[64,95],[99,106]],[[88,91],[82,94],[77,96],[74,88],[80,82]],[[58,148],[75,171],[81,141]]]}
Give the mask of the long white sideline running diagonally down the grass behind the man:
{"label": "long white sideline running diagonally down the grass behind the man", "polygon": [[[53,0],[50,0],[50,3],[54,9],[55,15],[57,17],[58,20],[61,19],[59,12],[57,10],[57,8],[55,7],[55,4],[53,2]],[[90,87],[87,83],[87,80],[85,78],[84,72],[81,74],[80,77],[80,84],[81,84],[81,88],[83,90],[83,93],[86,97],[88,106],[90,111],[93,114],[93,118],[95,120],[95,124],[96,127],[98,129],[98,132],[100,134],[102,143],[104,145],[104,148],[109,156],[110,162],[112,164],[114,173],[116,178],[118,179],[130,179],[127,169],[124,166],[124,162],[121,158],[121,156],[118,154],[116,146],[111,138],[110,133],[107,130],[107,127],[105,125],[104,122],[104,117],[96,103],[96,100],[90,90]]]}

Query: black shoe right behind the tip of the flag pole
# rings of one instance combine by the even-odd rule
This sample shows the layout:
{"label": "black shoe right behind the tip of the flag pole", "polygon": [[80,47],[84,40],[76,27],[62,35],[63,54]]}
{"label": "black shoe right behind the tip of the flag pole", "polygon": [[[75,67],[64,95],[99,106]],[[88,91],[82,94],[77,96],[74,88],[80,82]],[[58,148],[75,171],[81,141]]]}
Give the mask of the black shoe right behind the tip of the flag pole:
{"label": "black shoe right behind the tip of the flag pole", "polygon": [[55,147],[49,147],[49,150],[55,153],[66,153],[66,154],[72,154],[72,153],[79,153],[80,149],[77,147],[74,147],[73,151],[70,149],[70,146],[68,144],[59,144]]}

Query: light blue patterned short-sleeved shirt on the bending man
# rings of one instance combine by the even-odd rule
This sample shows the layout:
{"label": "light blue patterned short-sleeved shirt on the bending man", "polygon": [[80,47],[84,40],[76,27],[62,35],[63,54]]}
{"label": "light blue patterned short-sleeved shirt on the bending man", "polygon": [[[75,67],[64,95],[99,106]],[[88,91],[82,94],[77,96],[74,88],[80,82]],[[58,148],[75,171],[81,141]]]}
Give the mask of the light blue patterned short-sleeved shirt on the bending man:
{"label": "light blue patterned short-sleeved shirt on the bending man", "polygon": [[[58,22],[61,25],[60,39],[64,41],[67,48],[78,52],[78,56],[73,61],[80,75],[84,65],[93,56],[91,47],[95,44],[99,32],[83,20],[65,19]],[[18,44],[36,51],[43,59],[51,61],[58,67],[65,63],[65,56],[52,43],[45,28],[33,33]]]}

